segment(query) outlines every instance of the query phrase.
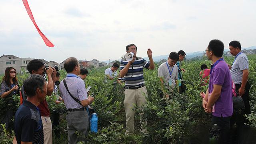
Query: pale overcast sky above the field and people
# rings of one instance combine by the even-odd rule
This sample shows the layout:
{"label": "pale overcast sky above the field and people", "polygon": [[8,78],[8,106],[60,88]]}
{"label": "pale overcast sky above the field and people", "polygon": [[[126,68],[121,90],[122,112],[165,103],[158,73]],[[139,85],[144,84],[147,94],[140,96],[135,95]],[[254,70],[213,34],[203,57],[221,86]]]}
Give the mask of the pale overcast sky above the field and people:
{"label": "pale overcast sky above the field and people", "polygon": [[126,45],[137,56],[204,51],[212,39],[256,46],[256,0],[28,0],[47,47],[22,0],[0,0],[0,54],[62,62],[115,60]]}

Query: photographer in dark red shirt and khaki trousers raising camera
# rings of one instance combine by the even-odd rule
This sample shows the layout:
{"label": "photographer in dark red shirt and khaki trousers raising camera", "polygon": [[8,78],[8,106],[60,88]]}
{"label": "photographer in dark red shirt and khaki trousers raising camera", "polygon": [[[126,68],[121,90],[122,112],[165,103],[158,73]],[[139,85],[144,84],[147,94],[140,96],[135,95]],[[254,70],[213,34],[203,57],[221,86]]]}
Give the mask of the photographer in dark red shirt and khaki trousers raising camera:
{"label": "photographer in dark red shirt and khaki trousers raising camera", "polygon": [[[48,83],[47,83],[47,94],[51,96],[52,92],[54,91],[54,83],[56,77],[56,70],[53,67],[45,67],[42,60],[34,59],[28,62],[28,72],[30,74],[39,74],[41,76],[47,75]],[[22,86],[22,98],[23,102],[27,99],[27,95],[24,91],[24,87]],[[44,130],[44,143],[45,144],[52,144],[52,121],[50,119],[50,110],[48,108],[48,103],[46,99],[40,102],[38,105],[41,113],[41,119],[43,123],[43,130]]]}

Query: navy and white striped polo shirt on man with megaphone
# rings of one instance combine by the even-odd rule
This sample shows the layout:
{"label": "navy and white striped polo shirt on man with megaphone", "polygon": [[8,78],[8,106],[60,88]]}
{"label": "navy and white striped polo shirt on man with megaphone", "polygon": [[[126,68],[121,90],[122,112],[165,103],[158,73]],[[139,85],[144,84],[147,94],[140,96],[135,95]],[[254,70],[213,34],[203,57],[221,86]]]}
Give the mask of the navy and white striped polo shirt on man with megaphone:
{"label": "navy and white striped polo shirt on man with megaphone", "polygon": [[[122,60],[120,63],[120,70],[122,70],[128,61]],[[150,62],[144,58],[136,57],[136,60],[130,65],[127,74],[124,76],[125,86],[138,87],[145,83],[143,76],[143,69],[148,69]]]}

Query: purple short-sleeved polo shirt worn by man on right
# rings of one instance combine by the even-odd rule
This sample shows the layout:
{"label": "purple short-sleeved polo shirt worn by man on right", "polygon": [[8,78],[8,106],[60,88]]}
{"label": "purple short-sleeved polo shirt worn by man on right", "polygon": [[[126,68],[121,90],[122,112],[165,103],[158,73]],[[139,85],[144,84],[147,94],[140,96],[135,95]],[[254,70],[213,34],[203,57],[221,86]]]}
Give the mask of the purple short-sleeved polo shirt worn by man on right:
{"label": "purple short-sleeved polo shirt worn by man on right", "polygon": [[222,86],[220,97],[215,102],[215,112],[212,113],[215,117],[229,117],[233,114],[232,101],[232,78],[228,64],[224,60],[220,60],[214,68],[209,82],[209,93],[213,91],[213,85]]}

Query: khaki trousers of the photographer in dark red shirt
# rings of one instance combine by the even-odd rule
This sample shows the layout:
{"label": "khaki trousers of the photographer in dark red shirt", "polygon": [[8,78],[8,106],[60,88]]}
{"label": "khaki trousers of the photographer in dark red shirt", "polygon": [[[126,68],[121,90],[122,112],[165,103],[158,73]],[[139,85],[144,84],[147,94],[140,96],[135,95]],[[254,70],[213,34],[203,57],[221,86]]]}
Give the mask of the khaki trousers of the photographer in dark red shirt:
{"label": "khaki trousers of the photographer in dark red shirt", "polygon": [[50,117],[41,117],[44,129],[44,144],[52,144],[52,121]]}

